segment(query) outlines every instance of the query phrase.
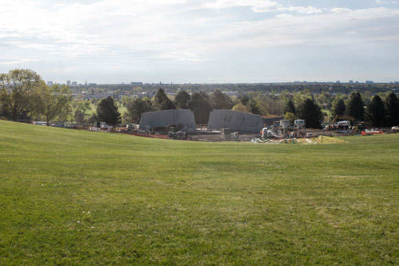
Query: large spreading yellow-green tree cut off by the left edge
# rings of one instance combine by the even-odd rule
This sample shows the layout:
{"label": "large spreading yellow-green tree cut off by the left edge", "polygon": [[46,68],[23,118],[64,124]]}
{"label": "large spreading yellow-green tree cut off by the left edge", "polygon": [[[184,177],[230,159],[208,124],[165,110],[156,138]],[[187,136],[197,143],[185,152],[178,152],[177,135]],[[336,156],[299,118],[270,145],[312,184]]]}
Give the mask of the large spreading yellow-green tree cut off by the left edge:
{"label": "large spreading yellow-green tree cut off by the left edge", "polygon": [[21,119],[32,109],[32,96],[43,85],[39,74],[30,69],[13,69],[8,74],[0,74],[2,115],[13,121]]}

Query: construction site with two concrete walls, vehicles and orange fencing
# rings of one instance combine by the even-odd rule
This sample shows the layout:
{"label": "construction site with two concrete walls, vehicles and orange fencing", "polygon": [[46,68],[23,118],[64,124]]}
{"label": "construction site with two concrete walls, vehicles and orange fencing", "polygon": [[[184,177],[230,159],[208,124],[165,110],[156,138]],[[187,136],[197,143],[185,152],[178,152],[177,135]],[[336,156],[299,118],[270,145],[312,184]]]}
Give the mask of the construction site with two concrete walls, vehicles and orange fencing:
{"label": "construction site with two concrete walls, vehicles and orange fencing", "polygon": [[343,143],[336,137],[349,135],[376,135],[397,133],[392,129],[307,129],[305,120],[276,118],[274,121],[260,115],[233,110],[215,109],[208,124],[195,124],[193,111],[176,109],[142,113],[140,124],[117,127],[96,122],[91,126],[73,126],[75,129],[125,133],[140,137],[202,142],[253,142],[265,144],[324,144]]}

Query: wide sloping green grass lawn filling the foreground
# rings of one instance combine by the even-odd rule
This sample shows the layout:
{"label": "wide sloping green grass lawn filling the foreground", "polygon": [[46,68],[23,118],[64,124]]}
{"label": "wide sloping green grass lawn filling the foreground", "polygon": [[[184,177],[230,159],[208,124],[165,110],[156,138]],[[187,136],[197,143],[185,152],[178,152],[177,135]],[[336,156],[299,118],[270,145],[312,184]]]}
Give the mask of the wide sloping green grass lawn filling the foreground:
{"label": "wide sloping green grass lawn filling the foreground", "polygon": [[346,140],[0,121],[0,265],[398,265],[399,135]]}

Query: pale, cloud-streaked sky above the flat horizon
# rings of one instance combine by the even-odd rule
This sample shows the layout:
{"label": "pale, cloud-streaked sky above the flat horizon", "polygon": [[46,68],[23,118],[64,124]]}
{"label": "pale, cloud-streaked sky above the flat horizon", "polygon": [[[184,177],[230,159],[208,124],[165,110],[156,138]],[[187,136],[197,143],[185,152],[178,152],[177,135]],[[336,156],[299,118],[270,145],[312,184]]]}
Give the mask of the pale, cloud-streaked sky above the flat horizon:
{"label": "pale, cloud-streaked sky above the flat horizon", "polygon": [[399,0],[0,0],[0,73],[79,83],[399,80]]}

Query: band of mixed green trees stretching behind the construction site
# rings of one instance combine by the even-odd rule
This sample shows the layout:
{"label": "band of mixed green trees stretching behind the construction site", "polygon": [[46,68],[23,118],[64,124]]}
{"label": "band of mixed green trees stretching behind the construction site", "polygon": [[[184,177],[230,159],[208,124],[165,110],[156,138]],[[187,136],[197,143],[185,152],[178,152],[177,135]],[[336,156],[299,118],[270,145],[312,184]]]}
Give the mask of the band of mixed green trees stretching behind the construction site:
{"label": "band of mixed green trees stretching behind the construction site", "polygon": [[[14,69],[0,74],[0,118],[7,120],[76,121],[108,124],[138,123],[142,113],[167,109],[191,109],[197,124],[207,124],[213,109],[233,109],[262,116],[284,116],[294,122],[306,120],[308,127],[319,128],[323,121],[331,121],[322,109],[331,110],[332,118],[346,117],[354,122],[367,120],[373,126],[399,124],[399,103],[395,93],[388,91],[372,96],[371,91],[352,91],[349,96],[341,93],[311,93],[283,90],[279,93],[248,91],[230,97],[220,89],[212,93],[180,90],[174,97],[158,89],[153,98],[123,97],[127,111],[120,113],[112,97],[96,103],[96,111],[87,119],[91,102],[75,100],[66,85],[47,86],[39,74],[30,69]],[[74,113],[72,113],[74,111]]]}

